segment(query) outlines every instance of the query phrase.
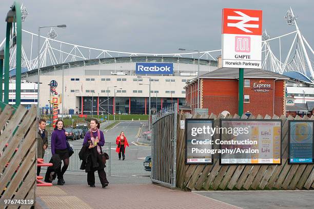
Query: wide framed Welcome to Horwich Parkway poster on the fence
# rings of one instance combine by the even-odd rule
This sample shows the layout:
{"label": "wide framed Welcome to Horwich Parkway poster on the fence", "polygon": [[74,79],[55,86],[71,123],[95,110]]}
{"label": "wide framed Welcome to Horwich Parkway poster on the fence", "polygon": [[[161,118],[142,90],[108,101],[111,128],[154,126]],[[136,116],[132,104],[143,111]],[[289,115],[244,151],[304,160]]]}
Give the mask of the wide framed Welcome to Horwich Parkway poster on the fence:
{"label": "wide framed Welcome to Horwich Parkway poster on the fence", "polygon": [[222,119],[221,164],[281,164],[280,120]]}

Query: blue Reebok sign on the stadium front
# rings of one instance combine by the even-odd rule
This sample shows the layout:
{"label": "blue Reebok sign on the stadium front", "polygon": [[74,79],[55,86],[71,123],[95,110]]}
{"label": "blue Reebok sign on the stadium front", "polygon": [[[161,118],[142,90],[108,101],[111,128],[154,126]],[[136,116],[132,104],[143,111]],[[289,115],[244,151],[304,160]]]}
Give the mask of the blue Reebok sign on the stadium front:
{"label": "blue Reebok sign on the stadium front", "polygon": [[136,74],[173,74],[173,63],[136,63]]}

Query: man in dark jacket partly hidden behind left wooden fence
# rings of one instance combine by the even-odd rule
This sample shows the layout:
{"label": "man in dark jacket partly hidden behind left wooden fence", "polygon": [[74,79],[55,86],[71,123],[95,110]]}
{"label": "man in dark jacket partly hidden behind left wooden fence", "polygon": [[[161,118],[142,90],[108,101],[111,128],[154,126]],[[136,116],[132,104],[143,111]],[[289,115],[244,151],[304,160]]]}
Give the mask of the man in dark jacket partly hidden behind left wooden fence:
{"label": "man in dark jacket partly hidden behind left wooden fence", "polygon": [[[38,122],[37,132],[37,158],[44,158],[45,150],[48,147],[48,131],[46,130],[46,120],[41,119]],[[37,176],[41,173],[41,167],[37,167]]]}

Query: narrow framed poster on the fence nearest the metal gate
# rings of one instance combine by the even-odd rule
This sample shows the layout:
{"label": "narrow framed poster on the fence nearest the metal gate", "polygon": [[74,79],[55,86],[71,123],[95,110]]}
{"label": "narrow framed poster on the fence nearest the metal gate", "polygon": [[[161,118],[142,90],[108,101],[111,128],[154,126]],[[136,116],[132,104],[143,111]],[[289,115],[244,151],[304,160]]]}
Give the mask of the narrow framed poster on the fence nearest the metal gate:
{"label": "narrow framed poster on the fence nearest the metal gate", "polygon": [[213,119],[185,120],[186,164],[212,163]]}

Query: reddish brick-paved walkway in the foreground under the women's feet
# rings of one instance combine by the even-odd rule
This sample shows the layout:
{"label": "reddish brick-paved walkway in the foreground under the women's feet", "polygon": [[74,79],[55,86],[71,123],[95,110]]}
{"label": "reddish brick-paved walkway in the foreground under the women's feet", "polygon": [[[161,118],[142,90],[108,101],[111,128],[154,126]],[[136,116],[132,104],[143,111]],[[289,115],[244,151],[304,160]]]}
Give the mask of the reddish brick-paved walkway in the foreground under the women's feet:
{"label": "reddish brick-paved walkway in the foreground under the women's feet", "polygon": [[37,187],[36,208],[239,208],[191,192],[156,184]]}

